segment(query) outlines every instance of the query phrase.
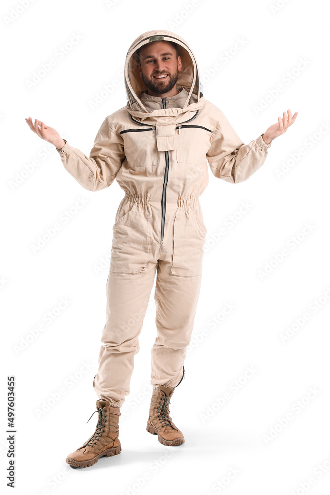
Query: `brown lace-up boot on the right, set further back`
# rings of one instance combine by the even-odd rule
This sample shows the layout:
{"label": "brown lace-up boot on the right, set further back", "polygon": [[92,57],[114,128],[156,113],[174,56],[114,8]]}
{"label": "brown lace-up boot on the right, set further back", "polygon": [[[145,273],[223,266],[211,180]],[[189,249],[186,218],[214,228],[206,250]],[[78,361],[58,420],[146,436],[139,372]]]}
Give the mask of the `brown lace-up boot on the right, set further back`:
{"label": "brown lace-up boot on the right, set further back", "polygon": [[158,440],[163,445],[180,445],[185,442],[184,436],[175,426],[170,417],[170,399],[174,393],[174,387],[161,386],[153,389],[149,418],[146,429],[153,435],[158,435]]}

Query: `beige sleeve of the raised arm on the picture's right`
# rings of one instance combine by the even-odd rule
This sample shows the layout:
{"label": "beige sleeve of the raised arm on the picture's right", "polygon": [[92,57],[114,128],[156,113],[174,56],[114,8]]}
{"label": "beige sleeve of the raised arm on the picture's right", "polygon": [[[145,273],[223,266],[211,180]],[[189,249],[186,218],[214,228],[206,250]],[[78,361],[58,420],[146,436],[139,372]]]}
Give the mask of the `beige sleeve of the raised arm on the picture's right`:
{"label": "beige sleeve of the raised arm on the picture's right", "polygon": [[265,143],[261,134],[245,145],[223,112],[221,116],[206,157],[215,177],[232,183],[243,182],[263,165],[272,143]]}

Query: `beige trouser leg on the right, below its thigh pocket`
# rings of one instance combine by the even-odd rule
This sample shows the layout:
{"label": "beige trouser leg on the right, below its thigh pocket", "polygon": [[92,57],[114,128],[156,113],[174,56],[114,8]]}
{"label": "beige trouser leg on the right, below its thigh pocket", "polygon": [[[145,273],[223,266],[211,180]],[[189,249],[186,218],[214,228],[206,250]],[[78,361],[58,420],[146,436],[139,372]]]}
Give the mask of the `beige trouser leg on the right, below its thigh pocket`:
{"label": "beige trouser leg on the right, below its thigh pocket", "polygon": [[170,268],[170,261],[158,260],[157,337],[151,349],[151,384],[155,389],[161,385],[175,387],[182,378],[201,285],[201,274],[178,276],[171,274]]}

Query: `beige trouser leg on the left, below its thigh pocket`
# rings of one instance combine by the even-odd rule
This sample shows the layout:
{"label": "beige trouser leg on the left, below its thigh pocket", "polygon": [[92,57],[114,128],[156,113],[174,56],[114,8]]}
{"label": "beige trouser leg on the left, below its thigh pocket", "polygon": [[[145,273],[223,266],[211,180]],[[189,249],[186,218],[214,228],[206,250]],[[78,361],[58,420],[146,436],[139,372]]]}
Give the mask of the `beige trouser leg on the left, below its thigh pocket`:
{"label": "beige trouser leg on the left, below its thigh pocket", "polygon": [[121,407],[130,391],[134,355],[148,307],[157,263],[148,263],[146,273],[109,273],[107,319],[102,333],[99,369],[94,390],[100,400]]}

